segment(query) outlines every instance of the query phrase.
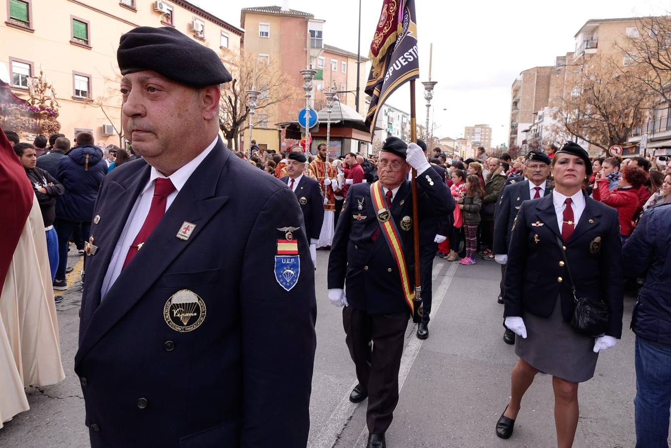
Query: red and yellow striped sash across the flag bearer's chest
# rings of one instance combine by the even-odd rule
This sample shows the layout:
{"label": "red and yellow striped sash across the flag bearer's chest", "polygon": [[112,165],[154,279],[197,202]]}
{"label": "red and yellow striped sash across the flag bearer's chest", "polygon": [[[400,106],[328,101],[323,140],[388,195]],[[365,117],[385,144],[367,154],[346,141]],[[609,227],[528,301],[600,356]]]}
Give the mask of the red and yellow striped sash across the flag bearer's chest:
{"label": "red and yellow striped sash across the flag bearer's chest", "polygon": [[395,226],[394,220],[391,216],[391,204],[387,204],[384,193],[382,193],[382,184],[377,181],[370,185],[370,197],[373,199],[373,208],[375,216],[378,218],[380,224],[380,233],[384,235],[386,244],[389,245],[391,255],[396,260],[396,265],[399,268],[399,277],[401,277],[401,287],[403,287],[403,297],[405,302],[410,307],[411,315],[415,315],[415,293],[410,287],[408,278],[408,269],[405,264],[405,256],[403,255],[403,242],[399,236],[399,229]]}

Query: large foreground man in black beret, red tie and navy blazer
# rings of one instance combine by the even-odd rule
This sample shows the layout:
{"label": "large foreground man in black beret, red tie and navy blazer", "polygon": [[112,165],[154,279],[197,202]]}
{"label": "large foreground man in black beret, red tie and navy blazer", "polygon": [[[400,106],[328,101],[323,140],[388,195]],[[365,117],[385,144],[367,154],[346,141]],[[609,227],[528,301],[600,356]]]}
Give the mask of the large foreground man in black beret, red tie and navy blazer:
{"label": "large foreground man in black beret, red tie and navy blazer", "polygon": [[295,195],[217,135],[231,75],[213,50],[140,27],[117,60],[142,159],[105,177],[87,238],[91,446],[304,447],[316,304]]}

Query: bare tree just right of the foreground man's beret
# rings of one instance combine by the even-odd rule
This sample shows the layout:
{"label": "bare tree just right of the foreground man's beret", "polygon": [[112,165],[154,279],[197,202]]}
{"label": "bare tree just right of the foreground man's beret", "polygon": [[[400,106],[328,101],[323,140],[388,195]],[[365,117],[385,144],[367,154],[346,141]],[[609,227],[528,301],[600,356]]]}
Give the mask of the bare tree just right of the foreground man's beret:
{"label": "bare tree just right of the foreground man's beret", "polygon": [[[300,89],[291,86],[291,79],[286,73],[282,73],[279,64],[269,60],[265,62],[256,54],[236,55],[229,61],[232,66],[233,81],[221,86],[221,109],[219,115],[219,128],[227,140],[229,148],[235,145],[236,151],[240,150],[238,135],[244,130],[249,116],[247,91],[257,90],[261,94],[256,101],[255,118],[256,126],[260,121],[259,111],[268,111],[268,119],[276,119],[272,111],[281,115],[282,103],[293,97],[300,96]],[[279,107],[270,107],[279,105]],[[265,109],[265,110],[264,110]]]}

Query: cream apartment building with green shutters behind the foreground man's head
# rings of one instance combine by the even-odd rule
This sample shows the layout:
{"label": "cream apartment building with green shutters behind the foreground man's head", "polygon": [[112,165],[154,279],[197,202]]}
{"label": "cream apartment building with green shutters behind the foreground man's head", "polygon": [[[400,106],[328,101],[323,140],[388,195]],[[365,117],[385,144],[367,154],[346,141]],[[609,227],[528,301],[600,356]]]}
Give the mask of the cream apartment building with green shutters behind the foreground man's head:
{"label": "cream apartment building with green shutters behind the foreground man's head", "polygon": [[123,144],[116,60],[121,34],[138,26],[170,26],[213,48],[224,63],[240,53],[243,36],[240,28],[183,0],[7,0],[4,11],[2,81],[28,99],[28,79],[43,70],[56,91],[60,132],[71,140],[92,132],[101,146]]}

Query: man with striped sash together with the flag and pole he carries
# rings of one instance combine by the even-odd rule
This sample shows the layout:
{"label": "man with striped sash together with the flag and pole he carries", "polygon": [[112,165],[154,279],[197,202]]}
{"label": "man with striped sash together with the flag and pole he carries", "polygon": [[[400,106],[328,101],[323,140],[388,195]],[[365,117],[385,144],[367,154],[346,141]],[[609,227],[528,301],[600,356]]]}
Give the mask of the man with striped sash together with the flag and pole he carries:
{"label": "man with striped sash together with the flag and pole he carries", "polygon": [[[366,120],[372,133],[384,100],[399,85],[419,76],[413,0],[384,0],[370,59],[366,93],[371,103]],[[414,120],[411,114],[412,140]],[[416,172],[412,185],[407,179],[411,168]],[[418,217],[437,218],[454,210],[445,182],[415,143],[387,138],[380,150],[378,177],[372,185],[358,183],[348,190],[328,272],[329,301],[345,306],[345,341],[359,382],[350,401],[369,399],[367,448],[386,447],[384,433],[399,401],[408,318],[421,321],[415,275]]]}

